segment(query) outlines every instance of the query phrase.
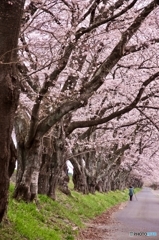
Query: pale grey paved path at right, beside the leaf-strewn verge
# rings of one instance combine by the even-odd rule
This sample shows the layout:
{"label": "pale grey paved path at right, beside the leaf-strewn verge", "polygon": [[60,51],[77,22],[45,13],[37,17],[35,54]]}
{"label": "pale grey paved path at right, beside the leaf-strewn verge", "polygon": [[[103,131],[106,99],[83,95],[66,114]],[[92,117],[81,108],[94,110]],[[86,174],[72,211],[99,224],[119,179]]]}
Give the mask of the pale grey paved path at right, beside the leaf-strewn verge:
{"label": "pale grey paved path at right, beside the leaf-strewn verge", "polygon": [[[159,240],[159,191],[143,188],[132,202],[113,214],[115,220],[109,226],[110,236],[103,240]],[[138,234],[137,236],[130,236]],[[145,232],[156,232],[157,236],[140,236]]]}

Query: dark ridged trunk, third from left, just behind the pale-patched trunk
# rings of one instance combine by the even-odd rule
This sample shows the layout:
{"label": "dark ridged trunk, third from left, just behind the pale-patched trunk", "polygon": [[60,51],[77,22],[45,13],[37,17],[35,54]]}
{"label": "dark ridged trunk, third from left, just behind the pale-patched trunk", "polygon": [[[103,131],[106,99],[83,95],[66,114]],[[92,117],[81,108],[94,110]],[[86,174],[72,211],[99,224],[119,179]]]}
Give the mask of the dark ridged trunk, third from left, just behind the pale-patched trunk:
{"label": "dark ridged trunk, third from left, just behind the pale-patched trunk", "polygon": [[[56,133],[56,134],[55,134]],[[38,193],[46,194],[52,199],[56,199],[56,188],[70,194],[67,183],[68,172],[65,161],[65,141],[61,127],[54,129],[54,136],[43,138],[43,156],[40,168]]]}

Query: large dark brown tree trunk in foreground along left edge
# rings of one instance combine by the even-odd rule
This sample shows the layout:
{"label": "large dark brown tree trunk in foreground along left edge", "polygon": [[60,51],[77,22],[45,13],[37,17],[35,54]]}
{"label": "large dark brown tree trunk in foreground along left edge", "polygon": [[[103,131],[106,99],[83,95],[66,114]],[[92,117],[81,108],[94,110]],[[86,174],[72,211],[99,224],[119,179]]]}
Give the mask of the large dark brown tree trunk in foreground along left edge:
{"label": "large dark brown tree trunk in foreground along left edge", "polygon": [[[15,63],[24,0],[0,3],[0,222],[7,208],[13,120],[19,91]],[[11,172],[10,172],[11,174]]]}

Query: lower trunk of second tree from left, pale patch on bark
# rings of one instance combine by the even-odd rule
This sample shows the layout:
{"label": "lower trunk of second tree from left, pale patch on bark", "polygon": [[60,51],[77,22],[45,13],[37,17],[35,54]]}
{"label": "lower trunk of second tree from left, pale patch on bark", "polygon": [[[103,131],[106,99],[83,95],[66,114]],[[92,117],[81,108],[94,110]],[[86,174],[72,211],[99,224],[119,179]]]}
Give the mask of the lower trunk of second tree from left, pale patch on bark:
{"label": "lower trunk of second tree from left, pale patch on bark", "polygon": [[[36,200],[41,167],[41,141],[34,140],[30,148],[21,148],[14,198],[26,202]],[[21,158],[21,161],[19,161]]]}

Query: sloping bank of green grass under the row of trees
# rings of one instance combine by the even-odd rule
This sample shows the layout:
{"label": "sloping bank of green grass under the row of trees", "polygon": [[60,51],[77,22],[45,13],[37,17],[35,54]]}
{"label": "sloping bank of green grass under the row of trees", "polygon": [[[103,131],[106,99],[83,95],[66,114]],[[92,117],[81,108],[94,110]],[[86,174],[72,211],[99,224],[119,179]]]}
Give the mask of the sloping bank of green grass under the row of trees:
{"label": "sloping bank of green grass under the row of trees", "polygon": [[39,195],[38,203],[12,199],[7,220],[0,226],[1,240],[73,240],[89,219],[108,208],[128,200],[128,190],[82,195],[71,190],[68,197],[57,191],[57,201]]}

